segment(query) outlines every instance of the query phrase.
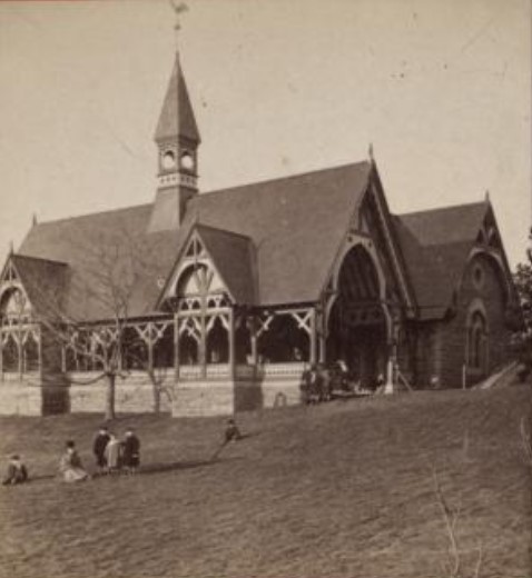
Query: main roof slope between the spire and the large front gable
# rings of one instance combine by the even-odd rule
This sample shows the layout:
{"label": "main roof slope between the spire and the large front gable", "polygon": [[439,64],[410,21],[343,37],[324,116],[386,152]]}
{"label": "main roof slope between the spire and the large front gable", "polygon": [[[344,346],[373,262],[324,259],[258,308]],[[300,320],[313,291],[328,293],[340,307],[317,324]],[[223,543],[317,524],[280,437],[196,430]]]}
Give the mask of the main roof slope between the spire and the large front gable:
{"label": "main roof slope between the spire and the large front gable", "polygon": [[259,305],[315,301],[370,172],[364,161],[200,195],[187,217],[252,239]]}

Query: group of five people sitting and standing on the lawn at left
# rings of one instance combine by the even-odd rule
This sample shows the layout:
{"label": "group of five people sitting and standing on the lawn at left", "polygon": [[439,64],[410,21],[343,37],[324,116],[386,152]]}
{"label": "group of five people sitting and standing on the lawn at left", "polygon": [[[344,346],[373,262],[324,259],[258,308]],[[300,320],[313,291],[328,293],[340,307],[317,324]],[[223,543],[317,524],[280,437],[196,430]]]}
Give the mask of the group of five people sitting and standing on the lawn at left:
{"label": "group of five people sitting and standing on the lawn at left", "polygon": [[[106,474],[136,474],[140,465],[140,440],[132,429],[127,429],[124,440],[119,440],[115,434],[102,426],[95,437],[92,452],[96,458],[97,475]],[[68,440],[63,455],[59,460],[59,472],[66,482],[83,481],[90,478],[83,468],[73,440]],[[28,480],[28,468],[20,456],[12,455],[3,486],[23,484]]]}

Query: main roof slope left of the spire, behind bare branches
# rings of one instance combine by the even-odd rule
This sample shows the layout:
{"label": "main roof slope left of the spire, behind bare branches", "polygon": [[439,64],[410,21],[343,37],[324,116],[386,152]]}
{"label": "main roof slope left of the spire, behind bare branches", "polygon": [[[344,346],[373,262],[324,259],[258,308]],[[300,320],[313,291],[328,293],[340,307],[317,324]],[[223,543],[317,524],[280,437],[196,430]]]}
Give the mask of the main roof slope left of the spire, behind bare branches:
{"label": "main roof slope left of the spire, behind bare branches", "polygon": [[145,233],[150,212],[151,206],[146,205],[36,225],[19,257],[68,263],[65,311],[73,319],[92,321],[112,316],[109,293],[114,283],[108,276],[126,272],[134,251],[137,279],[129,315],[151,315],[159,279],[173,263],[177,240],[175,231]]}

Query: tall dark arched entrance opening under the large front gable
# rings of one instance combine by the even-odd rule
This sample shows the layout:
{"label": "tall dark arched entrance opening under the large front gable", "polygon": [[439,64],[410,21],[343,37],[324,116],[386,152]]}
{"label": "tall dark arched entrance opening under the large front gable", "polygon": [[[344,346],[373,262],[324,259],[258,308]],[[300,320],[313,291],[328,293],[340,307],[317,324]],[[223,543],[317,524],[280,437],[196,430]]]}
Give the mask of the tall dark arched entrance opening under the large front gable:
{"label": "tall dark arched entrance opening under the large front gable", "polygon": [[345,256],[328,312],[326,361],[343,360],[354,380],[374,387],[386,376],[388,328],[376,267],[362,246]]}

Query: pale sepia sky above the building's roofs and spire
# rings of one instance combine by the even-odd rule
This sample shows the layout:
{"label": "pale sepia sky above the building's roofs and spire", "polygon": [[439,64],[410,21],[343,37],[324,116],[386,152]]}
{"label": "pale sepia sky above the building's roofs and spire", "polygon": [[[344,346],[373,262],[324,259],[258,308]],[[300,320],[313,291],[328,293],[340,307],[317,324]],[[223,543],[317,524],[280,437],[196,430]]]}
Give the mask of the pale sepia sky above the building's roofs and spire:
{"label": "pale sepia sky above the building's roofs and spire", "polygon": [[[392,212],[486,190],[531,223],[529,0],[187,0],[201,192],[374,156]],[[0,258],[31,226],[151,202],[166,0],[0,2]]]}

